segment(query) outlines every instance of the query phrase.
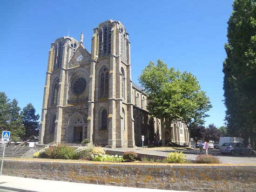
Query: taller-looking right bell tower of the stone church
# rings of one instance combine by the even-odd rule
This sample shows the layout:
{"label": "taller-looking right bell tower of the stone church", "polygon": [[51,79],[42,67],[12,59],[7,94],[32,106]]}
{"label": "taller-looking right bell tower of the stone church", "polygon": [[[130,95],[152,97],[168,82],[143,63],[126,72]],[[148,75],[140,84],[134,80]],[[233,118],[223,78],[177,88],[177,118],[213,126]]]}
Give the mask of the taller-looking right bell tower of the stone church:
{"label": "taller-looking right bell tower of the stone church", "polygon": [[106,139],[108,147],[134,147],[130,42],[120,21],[94,28],[91,54],[88,137],[95,143]]}

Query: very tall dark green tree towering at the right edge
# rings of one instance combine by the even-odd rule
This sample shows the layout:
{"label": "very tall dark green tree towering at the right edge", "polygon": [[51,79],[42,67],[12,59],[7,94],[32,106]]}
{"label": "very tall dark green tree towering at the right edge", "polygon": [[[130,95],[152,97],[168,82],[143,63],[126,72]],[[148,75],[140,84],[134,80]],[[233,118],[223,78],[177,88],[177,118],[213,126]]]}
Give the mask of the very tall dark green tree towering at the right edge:
{"label": "very tall dark green tree towering at the right edge", "polygon": [[228,25],[223,63],[227,130],[256,148],[256,0],[235,0]]}

